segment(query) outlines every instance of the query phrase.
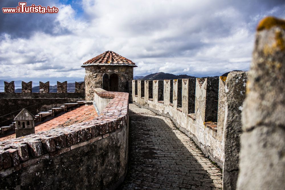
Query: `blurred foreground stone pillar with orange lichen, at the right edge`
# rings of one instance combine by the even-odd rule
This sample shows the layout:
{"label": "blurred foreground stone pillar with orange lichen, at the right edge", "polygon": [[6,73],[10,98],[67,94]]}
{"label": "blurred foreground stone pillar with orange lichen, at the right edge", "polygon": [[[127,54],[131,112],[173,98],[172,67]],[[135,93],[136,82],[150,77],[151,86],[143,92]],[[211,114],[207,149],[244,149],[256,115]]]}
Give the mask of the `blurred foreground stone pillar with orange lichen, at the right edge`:
{"label": "blurred foreground stone pillar with orange lichen, at the right edge", "polygon": [[243,110],[237,189],[285,187],[285,21],[257,27]]}

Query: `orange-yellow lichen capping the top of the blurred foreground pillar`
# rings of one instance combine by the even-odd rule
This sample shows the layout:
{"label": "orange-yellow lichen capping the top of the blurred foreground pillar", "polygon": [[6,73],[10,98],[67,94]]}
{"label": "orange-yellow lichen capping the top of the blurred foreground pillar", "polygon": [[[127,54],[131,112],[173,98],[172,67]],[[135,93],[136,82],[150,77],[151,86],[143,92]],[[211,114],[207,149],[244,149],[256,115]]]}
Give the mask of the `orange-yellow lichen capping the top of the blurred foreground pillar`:
{"label": "orange-yellow lichen capping the top of the blurred foreground pillar", "polygon": [[273,26],[279,26],[285,30],[285,21],[275,17],[265,17],[257,25],[257,31],[269,30]]}

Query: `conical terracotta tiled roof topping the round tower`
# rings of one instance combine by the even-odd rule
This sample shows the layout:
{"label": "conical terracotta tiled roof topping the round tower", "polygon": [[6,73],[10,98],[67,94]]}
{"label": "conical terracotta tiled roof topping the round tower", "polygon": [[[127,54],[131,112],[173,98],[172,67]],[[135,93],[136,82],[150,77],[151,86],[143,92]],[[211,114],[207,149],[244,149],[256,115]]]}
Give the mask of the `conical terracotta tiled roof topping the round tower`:
{"label": "conical terracotta tiled roof topping the round tower", "polygon": [[120,56],[119,54],[113,51],[106,51],[103,54],[100,54],[88,60],[82,65],[82,67],[90,65],[122,65],[137,67],[134,62],[127,58],[124,58],[123,56]]}

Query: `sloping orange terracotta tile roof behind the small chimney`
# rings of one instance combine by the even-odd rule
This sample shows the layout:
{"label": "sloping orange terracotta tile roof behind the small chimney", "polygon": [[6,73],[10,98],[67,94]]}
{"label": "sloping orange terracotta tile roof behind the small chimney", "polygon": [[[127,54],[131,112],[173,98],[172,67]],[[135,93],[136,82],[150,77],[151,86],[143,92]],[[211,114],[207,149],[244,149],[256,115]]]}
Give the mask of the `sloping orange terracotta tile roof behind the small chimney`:
{"label": "sloping orange terracotta tile roof behind the small chimney", "polygon": [[[53,128],[65,127],[74,123],[81,123],[95,119],[97,112],[93,105],[83,105],[70,112],[62,114],[44,123],[35,126],[35,133],[40,131],[47,131]],[[16,138],[15,133],[0,138],[0,141]]]}

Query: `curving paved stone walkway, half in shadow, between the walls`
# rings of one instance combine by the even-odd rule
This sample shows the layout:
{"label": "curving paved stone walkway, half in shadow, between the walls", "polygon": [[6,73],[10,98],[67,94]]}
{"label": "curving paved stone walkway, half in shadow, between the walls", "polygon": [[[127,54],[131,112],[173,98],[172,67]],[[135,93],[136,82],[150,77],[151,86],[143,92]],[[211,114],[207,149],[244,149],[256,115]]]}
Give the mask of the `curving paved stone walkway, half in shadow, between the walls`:
{"label": "curving paved stone walkway, half in shadow, between the walls", "polygon": [[221,189],[220,169],[169,118],[129,109],[129,170],[118,189]]}

